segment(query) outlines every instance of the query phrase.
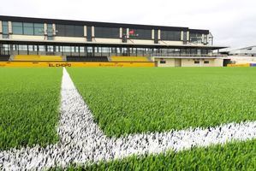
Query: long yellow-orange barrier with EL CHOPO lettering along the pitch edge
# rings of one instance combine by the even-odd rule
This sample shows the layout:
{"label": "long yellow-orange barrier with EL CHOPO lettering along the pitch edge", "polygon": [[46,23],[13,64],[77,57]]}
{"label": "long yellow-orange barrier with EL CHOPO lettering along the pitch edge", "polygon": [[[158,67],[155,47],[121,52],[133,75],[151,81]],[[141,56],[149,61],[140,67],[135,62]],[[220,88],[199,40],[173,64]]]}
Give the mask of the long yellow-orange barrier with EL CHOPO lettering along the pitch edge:
{"label": "long yellow-orange barrier with EL CHOPO lettering along the pitch edge", "polygon": [[1,67],[154,67],[154,62],[0,62]]}

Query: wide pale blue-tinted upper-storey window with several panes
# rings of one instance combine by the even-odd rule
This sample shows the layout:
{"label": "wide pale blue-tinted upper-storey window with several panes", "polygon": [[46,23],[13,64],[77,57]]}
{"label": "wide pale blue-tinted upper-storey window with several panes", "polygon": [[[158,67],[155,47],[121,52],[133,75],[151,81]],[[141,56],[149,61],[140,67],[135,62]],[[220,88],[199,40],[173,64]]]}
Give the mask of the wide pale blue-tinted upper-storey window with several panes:
{"label": "wide pale blue-tinted upper-storey window with several panes", "polygon": [[44,35],[44,24],[28,22],[12,22],[14,34],[19,35]]}

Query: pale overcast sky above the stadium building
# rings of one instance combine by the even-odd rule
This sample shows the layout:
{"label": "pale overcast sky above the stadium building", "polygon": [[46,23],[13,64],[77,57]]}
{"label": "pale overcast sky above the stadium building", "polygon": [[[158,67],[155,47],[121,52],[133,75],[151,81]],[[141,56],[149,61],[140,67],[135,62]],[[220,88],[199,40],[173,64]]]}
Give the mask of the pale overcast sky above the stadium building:
{"label": "pale overcast sky above the stadium building", "polygon": [[209,29],[215,45],[256,45],[256,0],[5,0],[0,15]]}

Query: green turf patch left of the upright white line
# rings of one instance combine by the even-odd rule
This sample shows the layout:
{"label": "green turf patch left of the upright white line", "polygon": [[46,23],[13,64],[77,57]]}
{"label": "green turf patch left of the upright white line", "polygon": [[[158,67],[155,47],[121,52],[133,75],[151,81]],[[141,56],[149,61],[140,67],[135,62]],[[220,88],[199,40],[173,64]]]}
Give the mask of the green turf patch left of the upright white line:
{"label": "green turf patch left of the upright white line", "polygon": [[57,142],[62,68],[0,68],[0,150]]}

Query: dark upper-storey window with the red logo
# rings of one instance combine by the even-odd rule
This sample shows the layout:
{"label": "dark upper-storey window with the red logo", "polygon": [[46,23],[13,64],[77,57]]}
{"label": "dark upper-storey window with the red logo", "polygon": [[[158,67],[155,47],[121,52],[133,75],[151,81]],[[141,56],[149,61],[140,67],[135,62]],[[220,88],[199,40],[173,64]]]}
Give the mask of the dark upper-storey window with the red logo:
{"label": "dark upper-storey window with the red logo", "polygon": [[129,29],[129,38],[132,39],[152,39],[152,30]]}

